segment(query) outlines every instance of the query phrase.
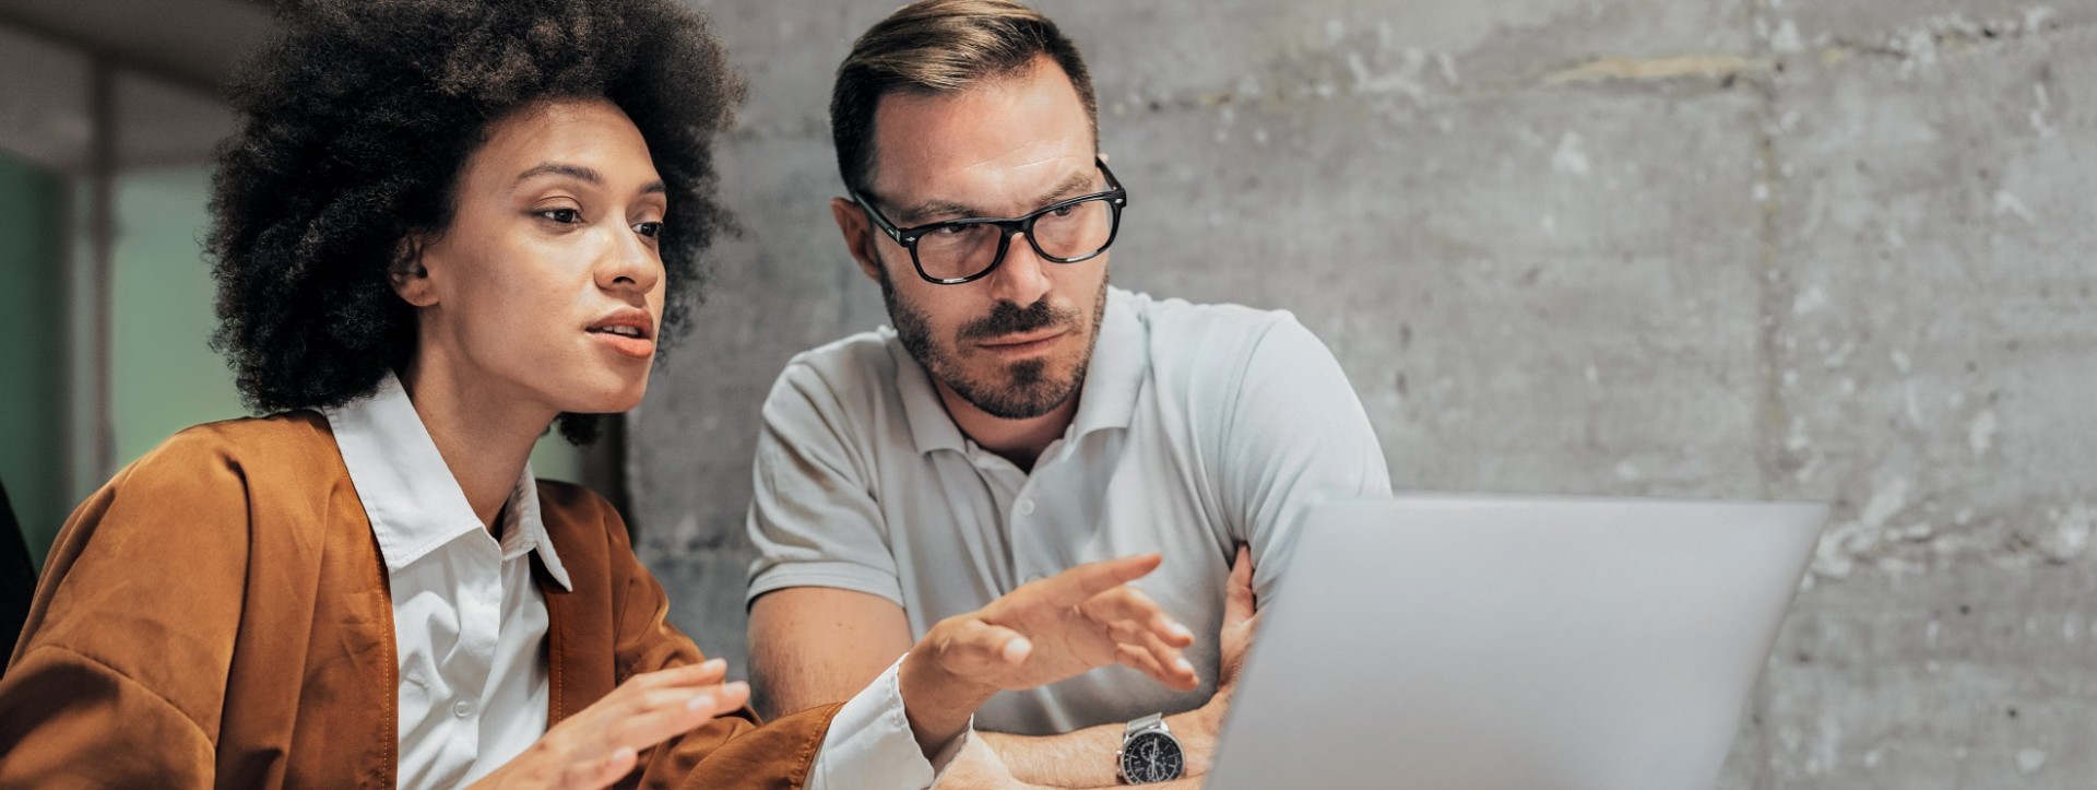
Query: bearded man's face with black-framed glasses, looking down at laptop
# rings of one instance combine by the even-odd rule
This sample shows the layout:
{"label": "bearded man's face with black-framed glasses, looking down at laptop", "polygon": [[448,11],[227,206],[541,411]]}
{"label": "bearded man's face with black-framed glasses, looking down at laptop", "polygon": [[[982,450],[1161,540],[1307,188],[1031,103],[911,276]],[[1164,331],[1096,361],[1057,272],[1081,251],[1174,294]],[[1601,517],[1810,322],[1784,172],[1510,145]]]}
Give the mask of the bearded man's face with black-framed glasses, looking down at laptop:
{"label": "bearded man's face with black-framed glasses, looking down at laptop", "polygon": [[[958,94],[889,94],[874,111],[866,197],[900,228],[1025,216],[1099,191],[1090,117],[1046,57]],[[837,210],[904,348],[935,381],[1004,419],[1046,415],[1084,383],[1107,295],[1105,254],[1057,264],[1015,235],[983,279],[935,285],[856,205]]]}

